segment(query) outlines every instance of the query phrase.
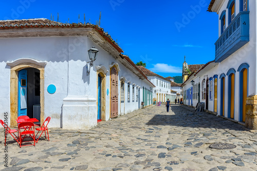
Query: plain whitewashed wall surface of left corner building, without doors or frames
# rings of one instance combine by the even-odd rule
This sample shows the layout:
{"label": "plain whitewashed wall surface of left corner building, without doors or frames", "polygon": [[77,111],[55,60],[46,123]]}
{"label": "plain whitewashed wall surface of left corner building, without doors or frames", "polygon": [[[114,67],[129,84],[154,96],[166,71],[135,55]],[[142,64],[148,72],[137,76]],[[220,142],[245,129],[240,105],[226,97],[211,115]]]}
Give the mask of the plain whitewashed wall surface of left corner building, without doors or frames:
{"label": "plain whitewashed wall surface of left corner building, without doors or frames", "polygon": [[[94,67],[90,69],[90,75],[86,75],[86,62],[89,61],[87,50],[92,46],[99,50],[98,58],[94,61]],[[86,36],[70,37],[29,37],[29,38],[1,38],[0,72],[2,78],[0,92],[0,112],[10,114],[10,67],[7,61],[20,58],[32,58],[46,61],[45,66],[45,118],[50,116],[49,127],[64,127],[68,129],[89,129],[97,124],[97,72],[95,66],[103,65],[107,70],[106,90],[110,92],[109,65],[117,62],[120,67],[118,73],[119,91],[119,115],[120,106],[120,77],[126,77],[140,86],[140,100],[142,100],[142,87],[150,89],[150,82],[139,79],[134,73],[115,60],[108,52],[104,51],[96,43]],[[54,84],[56,93],[49,94],[47,87]],[[132,86],[131,84],[131,86]],[[126,88],[125,83],[125,99]],[[105,92],[106,93],[106,92]],[[110,94],[106,94],[106,120],[110,115]],[[135,93],[136,96],[136,93]],[[132,89],[131,89],[132,98]],[[123,114],[138,109],[138,102],[127,103],[124,101]],[[123,106],[124,108],[124,106]],[[4,119],[0,115],[0,119]],[[76,121],[76,122],[75,122]],[[10,116],[9,116],[10,123]]]}

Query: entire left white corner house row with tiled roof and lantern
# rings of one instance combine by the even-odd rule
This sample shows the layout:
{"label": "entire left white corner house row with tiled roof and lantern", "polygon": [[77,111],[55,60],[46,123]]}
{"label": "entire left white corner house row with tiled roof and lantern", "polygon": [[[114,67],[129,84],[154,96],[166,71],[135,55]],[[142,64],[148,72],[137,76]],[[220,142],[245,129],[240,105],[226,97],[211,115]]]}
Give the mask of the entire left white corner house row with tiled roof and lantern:
{"label": "entire left white corner house row with tiled roof and lantern", "polygon": [[0,112],[11,126],[27,115],[90,129],[152,103],[154,84],[97,25],[1,20],[0,51]]}

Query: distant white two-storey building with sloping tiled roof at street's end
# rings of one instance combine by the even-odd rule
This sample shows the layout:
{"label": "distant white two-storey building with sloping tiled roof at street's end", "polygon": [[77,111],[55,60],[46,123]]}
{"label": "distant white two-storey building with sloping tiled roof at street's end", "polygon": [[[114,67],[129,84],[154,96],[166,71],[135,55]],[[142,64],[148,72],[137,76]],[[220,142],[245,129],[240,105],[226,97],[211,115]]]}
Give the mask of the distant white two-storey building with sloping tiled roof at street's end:
{"label": "distant white two-storey building with sloping tiled roof at street's end", "polygon": [[155,85],[153,89],[153,102],[166,102],[167,99],[175,99],[176,94],[171,91],[171,81],[164,78],[143,66],[137,66]]}

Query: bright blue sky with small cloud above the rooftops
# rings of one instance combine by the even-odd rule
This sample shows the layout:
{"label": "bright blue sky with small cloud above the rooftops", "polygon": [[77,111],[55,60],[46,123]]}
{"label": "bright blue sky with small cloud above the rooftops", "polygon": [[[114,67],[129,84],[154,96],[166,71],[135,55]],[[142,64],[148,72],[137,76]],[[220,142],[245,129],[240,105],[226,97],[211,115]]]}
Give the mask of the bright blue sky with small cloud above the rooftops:
{"label": "bright blue sky with small cloud above the rooftops", "polygon": [[136,63],[167,77],[181,75],[184,56],[188,64],[214,60],[218,15],[207,12],[210,0],[21,0],[4,1],[3,19],[48,18],[62,23],[96,24],[118,40],[124,54]]}

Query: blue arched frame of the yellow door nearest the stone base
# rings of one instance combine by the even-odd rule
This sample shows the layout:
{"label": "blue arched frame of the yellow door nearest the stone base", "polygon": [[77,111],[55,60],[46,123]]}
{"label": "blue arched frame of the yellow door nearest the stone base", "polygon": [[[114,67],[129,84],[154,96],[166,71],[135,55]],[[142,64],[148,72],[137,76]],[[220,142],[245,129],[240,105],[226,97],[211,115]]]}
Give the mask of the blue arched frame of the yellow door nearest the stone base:
{"label": "blue arched frame of the yellow door nearest the stone base", "polygon": [[243,72],[244,69],[247,69],[247,96],[248,96],[248,85],[249,85],[249,65],[248,63],[242,63],[237,71],[240,72],[239,74],[239,121],[243,121]]}

